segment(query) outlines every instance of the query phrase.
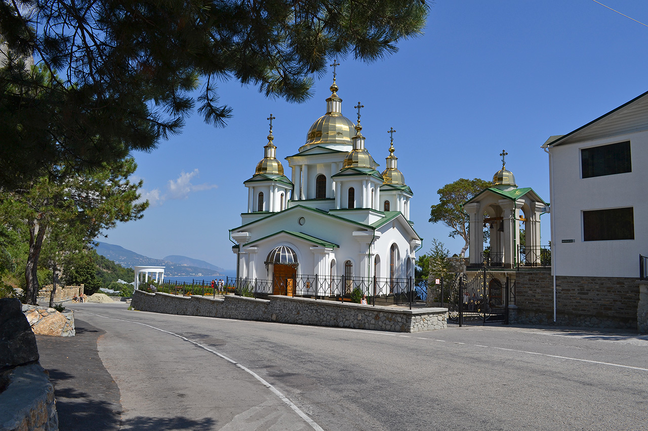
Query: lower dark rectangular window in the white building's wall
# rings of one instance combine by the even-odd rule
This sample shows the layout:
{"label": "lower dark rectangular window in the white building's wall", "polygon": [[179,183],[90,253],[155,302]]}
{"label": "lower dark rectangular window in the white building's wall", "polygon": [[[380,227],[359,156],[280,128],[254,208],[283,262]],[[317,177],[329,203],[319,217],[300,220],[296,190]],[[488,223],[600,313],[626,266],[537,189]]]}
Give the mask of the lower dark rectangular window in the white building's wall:
{"label": "lower dark rectangular window in the white building's wall", "polygon": [[583,240],[610,241],[634,239],[634,210],[613,208],[611,210],[583,211]]}

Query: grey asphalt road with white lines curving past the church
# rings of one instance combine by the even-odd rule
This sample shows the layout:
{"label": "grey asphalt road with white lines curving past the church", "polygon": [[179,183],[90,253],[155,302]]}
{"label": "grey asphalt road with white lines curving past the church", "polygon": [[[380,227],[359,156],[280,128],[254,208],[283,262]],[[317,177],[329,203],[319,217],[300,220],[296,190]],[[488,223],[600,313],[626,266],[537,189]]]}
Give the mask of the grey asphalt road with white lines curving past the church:
{"label": "grey asphalt road with white lines curving past the church", "polygon": [[645,336],[397,334],[73,308],[106,331],[98,355],[119,387],[121,429],[648,430]]}

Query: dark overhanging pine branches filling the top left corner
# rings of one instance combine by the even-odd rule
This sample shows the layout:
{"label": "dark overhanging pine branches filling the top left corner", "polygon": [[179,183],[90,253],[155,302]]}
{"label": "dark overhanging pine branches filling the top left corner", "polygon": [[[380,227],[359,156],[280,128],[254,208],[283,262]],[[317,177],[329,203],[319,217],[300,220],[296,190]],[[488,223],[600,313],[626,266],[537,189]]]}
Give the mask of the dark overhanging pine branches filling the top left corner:
{"label": "dark overhanging pine branches filling the top left corner", "polygon": [[427,13],[424,0],[0,2],[0,186],[154,149],[193,109],[224,126],[224,80],[301,102],[330,59],[384,58]]}

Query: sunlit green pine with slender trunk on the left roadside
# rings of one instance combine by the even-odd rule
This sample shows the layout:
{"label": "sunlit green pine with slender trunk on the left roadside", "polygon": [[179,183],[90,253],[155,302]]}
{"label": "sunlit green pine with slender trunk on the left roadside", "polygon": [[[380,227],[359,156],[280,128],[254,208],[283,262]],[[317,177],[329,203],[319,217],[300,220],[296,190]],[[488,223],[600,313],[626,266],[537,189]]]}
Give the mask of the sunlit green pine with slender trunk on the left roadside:
{"label": "sunlit green pine with slender trunk on the left roadside", "polygon": [[65,247],[69,254],[80,251],[82,245],[118,222],[142,217],[148,206],[148,202],[137,203],[142,182],[133,184],[128,179],[136,167],[135,161],[127,158],[97,171],[40,177],[25,189],[0,189],[0,216],[29,232],[25,263],[29,304],[36,304],[40,254],[48,233],[54,241],[56,233],[73,236],[75,241],[68,241]]}

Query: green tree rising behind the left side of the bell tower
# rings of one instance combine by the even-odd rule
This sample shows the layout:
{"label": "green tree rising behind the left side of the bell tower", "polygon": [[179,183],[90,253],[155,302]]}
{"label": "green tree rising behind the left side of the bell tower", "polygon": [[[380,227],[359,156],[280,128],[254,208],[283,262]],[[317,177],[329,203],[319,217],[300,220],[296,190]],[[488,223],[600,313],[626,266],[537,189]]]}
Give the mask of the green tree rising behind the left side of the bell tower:
{"label": "green tree rising behind the left side of the bell tower", "polygon": [[459,253],[462,258],[469,247],[470,232],[468,217],[463,212],[462,205],[489,186],[490,182],[479,178],[458,179],[437,190],[439,203],[430,207],[430,223],[443,223],[452,229],[449,234],[451,238],[459,236],[465,241]]}

